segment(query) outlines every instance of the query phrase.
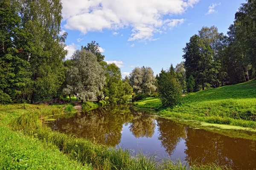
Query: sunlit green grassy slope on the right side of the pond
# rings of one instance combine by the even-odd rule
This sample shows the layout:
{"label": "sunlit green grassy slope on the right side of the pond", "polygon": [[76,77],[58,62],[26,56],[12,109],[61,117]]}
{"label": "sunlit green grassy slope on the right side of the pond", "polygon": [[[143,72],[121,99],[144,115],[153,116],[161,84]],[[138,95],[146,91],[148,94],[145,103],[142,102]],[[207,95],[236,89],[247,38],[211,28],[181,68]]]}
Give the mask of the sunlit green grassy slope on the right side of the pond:
{"label": "sunlit green grassy slope on the right side of the pond", "polygon": [[165,117],[256,128],[256,81],[189,93],[172,108],[162,107],[158,98],[140,100],[135,106],[157,109]]}

